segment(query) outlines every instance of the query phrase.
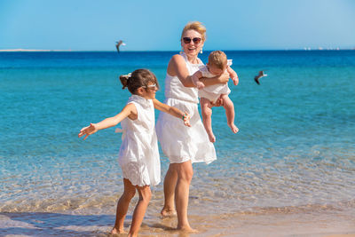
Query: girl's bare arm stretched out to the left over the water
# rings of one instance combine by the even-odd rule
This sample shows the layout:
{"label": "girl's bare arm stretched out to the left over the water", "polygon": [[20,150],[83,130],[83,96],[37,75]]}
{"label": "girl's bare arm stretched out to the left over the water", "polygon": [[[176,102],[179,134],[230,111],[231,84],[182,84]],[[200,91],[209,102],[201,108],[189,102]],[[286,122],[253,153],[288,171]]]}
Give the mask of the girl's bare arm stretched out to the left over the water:
{"label": "girl's bare arm stretched out to the left over the water", "polygon": [[90,123],[90,126],[84,127],[82,130],[80,130],[78,137],[82,138],[83,135],[85,135],[83,139],[86,139],[89,137],[89,135],[94,134],[98,130],[114,127],[126,117],[129,117],[131,120],[137,119],[137,108],[134,104],[128,104],[127,106],[123,107],[122,111],[113,117],[106,118],[98,123]]}

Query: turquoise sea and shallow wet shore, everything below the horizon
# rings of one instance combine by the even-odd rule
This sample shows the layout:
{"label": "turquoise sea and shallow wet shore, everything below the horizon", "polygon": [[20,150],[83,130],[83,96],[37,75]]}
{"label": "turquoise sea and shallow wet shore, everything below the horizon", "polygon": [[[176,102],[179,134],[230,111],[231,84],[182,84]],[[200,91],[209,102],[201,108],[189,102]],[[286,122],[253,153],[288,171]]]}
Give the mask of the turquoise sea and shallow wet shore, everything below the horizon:
{"label": "turquoise sea and shallow wet shore, everything below the horizon", "polygon": [[[0,236],[106,236],[123,190],[121,135],[77,133],[124,107],[121,74],[149,68],[163,100],[175,53],[0,53]],[[229,83],[240,131],[213,108],[217,161],[193,164],[191,235],[355,233],[355,51],[226,54],[240,77]],[[268,76],[257,85],[259,70]],[[162,184],[152,190],[141,233],[180,236],[159,217]]]}

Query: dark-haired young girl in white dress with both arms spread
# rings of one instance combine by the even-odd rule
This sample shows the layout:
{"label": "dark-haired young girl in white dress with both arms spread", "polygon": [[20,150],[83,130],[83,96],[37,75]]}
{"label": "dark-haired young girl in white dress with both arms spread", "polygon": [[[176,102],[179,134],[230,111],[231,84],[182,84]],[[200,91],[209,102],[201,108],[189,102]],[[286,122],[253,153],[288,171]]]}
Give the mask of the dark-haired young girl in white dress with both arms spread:
{"label": "dark-haired young girl in white dress with both arms spread", "polygon": [[114,117],[80,130],[79,138],[113,127],[121,122],[123,135],[118,161],[122,168],[124,192],[117,203],[116,220],[111,233],[124,233],[123,222],[130,200],[139,194],[139,201],[133,212],[130,233],[137,236],[146,208],[151,199],[150,186],[161,181],[160,159],[154,128],[154,108],[182,118],[185,126],[190,126],[190,115],[175,107],[162,104],[155,99],[158,82],[155,75],[146,69],[135,70],[131,75],[121,75],[123,88],[128,87],[132,96],[122,111]]}

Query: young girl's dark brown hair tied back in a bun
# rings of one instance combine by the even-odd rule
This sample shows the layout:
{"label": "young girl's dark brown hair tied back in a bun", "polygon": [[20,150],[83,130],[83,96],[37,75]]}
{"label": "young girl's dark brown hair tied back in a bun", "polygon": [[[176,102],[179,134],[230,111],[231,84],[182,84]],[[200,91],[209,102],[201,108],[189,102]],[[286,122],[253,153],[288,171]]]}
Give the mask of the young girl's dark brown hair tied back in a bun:
{"label": "young girl's dark brown hair tied back in a bun", "polygon": [[122,89],[127,87],[132,94],[136,94],[139,87],[147,86],[149,82],[155,83],[159,89],[156,76],[148,69],[137,69],[131,74],[120,75],[120,81],[123,86]]}

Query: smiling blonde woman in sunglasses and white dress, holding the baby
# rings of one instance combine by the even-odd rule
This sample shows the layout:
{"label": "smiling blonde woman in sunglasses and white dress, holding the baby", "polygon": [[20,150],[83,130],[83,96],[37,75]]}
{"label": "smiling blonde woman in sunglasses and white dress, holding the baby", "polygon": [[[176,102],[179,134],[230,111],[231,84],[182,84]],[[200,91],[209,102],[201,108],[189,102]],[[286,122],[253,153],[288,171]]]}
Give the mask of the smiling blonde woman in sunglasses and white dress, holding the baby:
{"label": "smiling blonde woman in sunglasses and white dress, holding the baby", "polygon": [[[177,107],[191,115],[191,128],[180,126],[181,122],[172,116],[161,113],[156,131],[163,153],[169,157],[170,166],[164,179],[164,207],[162,216],[177,213],[177,229],[192,232],[187,219],[189,187],[193,178],[193,162],[213,162],[216,160],[215,147],[201,122],[197,104],[197,89],[191,75],[203,65],[197,56],[206,39],[206,28],[201,22],[189,22],[181,35],[181,55],[170,59],[165,78],[165,104]],[[227,83],[227,73],[201,79],[205,85]],[[175,197],[175,204],[174,204]],[[175,210],[176,207],[176,210]]]}

